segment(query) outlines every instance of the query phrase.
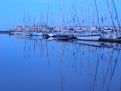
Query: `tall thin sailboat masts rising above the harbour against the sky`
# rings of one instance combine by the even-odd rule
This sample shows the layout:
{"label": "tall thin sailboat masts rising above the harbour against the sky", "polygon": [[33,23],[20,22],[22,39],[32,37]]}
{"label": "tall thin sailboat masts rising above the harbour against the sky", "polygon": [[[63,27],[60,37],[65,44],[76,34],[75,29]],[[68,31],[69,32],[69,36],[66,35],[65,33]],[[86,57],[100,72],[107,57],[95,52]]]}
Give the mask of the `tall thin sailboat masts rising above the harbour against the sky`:
{"label": "tall thin sailboat masts rising above the harbour against the sky", "polygon": [[[108,12],[106,12],[106,13],[107,14],[109,13],[109,15],[110,15],[109,17],[110,17],[111,22],[112,22],[111,27],[112,26],[114,27],[112,31],[113,32],[117,32],[116,31],[117,30],[117,26],[119,28],[121,26],[120,26],[120,20],[119,20],[119,16],[118,16],[118,12],[117,12],[117,9],[116,9],[115,2],[114,2],[114,0],[105,0],[105,1],[106,1],[107,8],[108,8]],[[89,25],[87,25],[87,26],[90,26],[90,27],[91,26],[97,26],[98,29],[101,30],[101,22],[103,23],[105,18],[104,18],[104,16],[100,18],[99,9],[98,9],[99,7],[98,7],[98,4],[97,4],[97,0],[94,0],[95,11],[96,11],[95,14],[96,14],[96,18],[97,18],[96,19],[97,23],[95,25],[92,24],[92,22],[94,22],[94,20],[91,19],[93,17],[92,13],[94,13],[94,12],[92,12],[92,2],[90,0],[88,2],[89,2],[89,13],[90,14],[89,14],[89,18],[88,18]],[[118,25],[115,25],[115,20],[113,18],[113,13],[111,11],[111,5],[113,6],[114,13],[115,13],[115,20],[117,21]],[[50,10],[50,7],[48,6],[47,14],[45,16],[43,14],[40,14],[40,18],[39,18],[38,22],[36,22],[36,18],[35,17],[33,18],[33,20],[31,20],[30,17],[29,17],[28,20],[26,20],[26,14],[24,12],[24,18],[23,18],[24,25],[23,26],[34,26],[35,29],[36,29],[37,26],[53,27],[54,23],[55,23],[54,19],[52,20],[52,24],[51,25],[49,24],[49,14],[50,14],[49,10]],[[77,9],[75,8],[74,4],[72,5],[72,10],[73,10],[74,16],[72,16],[72,14],[70,14],[72,16],[71,17],[72,19],[69,20],[69,21],[66,21],[66,19],[64,18],[64,14],[62,12],[62,8],[60,7],[60,10],[59,10],[59,12],[60,12],[60,16],[59,17],[61,17],[61,25],[60,25],[60,27],[68,27],[68,26],[81,27],[81,26],[85,26],[86,25],[86,24],[83,25],[83,23],[86,20],[83,19],[82,22],[80,21],[79,15],[77,14]],[[79,9],[78,9],[78,12],[81,12],[81,11],[79,11]],[[44,19],[44,17],[46,17],[46,19]],[[31,24],[32,21],[33,21],[33,24]],[[28,24],[27,24],[27,22],[28,22]],[[58,21],[58,22],[60,22],[60,21]],[[71,23],[71,22],[73,23],[73,25],[69,25],[69,23]],[[55,24],[55,26],[56,26],[56,24]]]}

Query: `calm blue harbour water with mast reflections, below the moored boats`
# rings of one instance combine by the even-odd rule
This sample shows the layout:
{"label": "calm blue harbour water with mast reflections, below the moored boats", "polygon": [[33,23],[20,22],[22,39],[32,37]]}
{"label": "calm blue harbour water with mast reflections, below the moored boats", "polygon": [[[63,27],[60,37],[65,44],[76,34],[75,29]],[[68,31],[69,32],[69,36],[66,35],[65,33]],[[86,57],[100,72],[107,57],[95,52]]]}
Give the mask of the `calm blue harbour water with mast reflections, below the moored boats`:
{"label": "calm blue harbour water with mast reflections, below the moored boats", "polygon": [[0,91],[121,91],[121,51],[0,35]]}

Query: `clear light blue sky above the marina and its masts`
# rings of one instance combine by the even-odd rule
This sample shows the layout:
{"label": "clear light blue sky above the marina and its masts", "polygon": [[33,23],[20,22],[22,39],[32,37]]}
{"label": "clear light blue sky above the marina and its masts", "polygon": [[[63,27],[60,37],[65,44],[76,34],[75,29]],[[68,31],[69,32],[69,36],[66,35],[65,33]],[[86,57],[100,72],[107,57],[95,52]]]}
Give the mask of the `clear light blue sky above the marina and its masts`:
{"label": "clear light blue sky above the marina and its masts", "polygon": [[[114,1],[116,3],[119,18],[121,18],[121,0]],[[91,7],[89,7],[90,3],[92,4]],[[108,13],[106,0],[97,0],[97,4],[99,16],[106,16],[109,18],[104,25],[110,25],[110,15]],[[47,11],[49,15],[49,25],[60,25],[62,15],[64,16],[65,21],[68,22],[68,25],[74,25],[72,23],[72,17],[74,17],[75,13],[72,6],[75,6],[76,15],[79,17],[81,24],[88,25],[90,24],[90,21],[97,24],[94,0],[1,0],[0,29],[9,29],[16,25],[23,25],[24,17],[26,19],[26,24],[28,25],[33,24],[34,17],[36,23],[40,22],[42,16],[44,17],[44,20],[42,21],[47,21]],[[114,14],[112,7],[111,9]],[[92,18],[90,19],[89,17]],[[85,20],[84,23],[82,22],[83,19]]]}

